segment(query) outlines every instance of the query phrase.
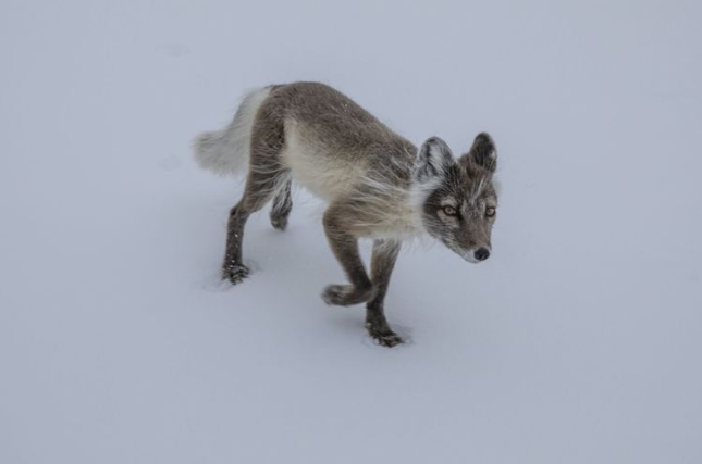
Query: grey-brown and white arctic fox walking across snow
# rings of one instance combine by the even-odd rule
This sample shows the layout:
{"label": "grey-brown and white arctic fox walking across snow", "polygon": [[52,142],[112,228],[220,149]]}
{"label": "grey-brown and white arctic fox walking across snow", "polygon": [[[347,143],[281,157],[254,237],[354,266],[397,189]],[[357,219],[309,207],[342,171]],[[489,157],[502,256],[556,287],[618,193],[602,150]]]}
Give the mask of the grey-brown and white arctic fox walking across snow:
{"label": "grey-brown and white arctic fox walking across snow", "polygon": [[[382,346],[403,342],[383,311],[403,240],[429,235],[469,262],[490,256],[497,152],[485,133],[455,160],[438,137],[417,149],[340,91],[295,83],[246,95],[234,121],[198,136],[194,149],[207,170],[247,171],[244,195],[230,212],[223,279],[238,284],[248,275],[242,239],[251,213],[272,199],[271,224],[285,229],[294,179],[328,203],[324,231],[350,281],[330,285],[322,299],[366,303],[366,327]],[[359,238],[374,240],[370,276]]]}

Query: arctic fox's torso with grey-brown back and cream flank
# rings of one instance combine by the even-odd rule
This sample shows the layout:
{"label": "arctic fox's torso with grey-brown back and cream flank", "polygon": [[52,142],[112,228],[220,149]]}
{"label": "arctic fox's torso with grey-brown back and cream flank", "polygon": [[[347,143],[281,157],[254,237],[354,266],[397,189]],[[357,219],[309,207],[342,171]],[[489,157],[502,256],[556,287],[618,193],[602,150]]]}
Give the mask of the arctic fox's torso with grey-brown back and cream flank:
{"label": "arctic fox's torso with grey-brown back and cream flank", "polygon": [[296,183],[328,202],[354,199],[348,214],[359,236],[421,233],[410,196],[412,143],[322,84],[274,87],[260,111],[282,115],[281,164]]}

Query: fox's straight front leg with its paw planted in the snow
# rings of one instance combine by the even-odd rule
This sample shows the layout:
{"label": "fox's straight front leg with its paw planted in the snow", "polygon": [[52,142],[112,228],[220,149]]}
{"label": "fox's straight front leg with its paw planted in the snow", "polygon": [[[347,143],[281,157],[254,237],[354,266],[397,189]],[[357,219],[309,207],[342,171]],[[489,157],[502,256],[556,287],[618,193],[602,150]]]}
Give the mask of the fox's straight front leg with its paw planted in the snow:
{"label": "fox's straight front leg with its paw planted in the snow", "polygon": [[395,267],[399,242],[394,240],[375,240],[370,264],[370,278],[375,288],[375,297],[366,305],[366,328],[368,334],[383,347],[394,347],[403,342],[387,324],[384,311],[385,293],[390,276]]}

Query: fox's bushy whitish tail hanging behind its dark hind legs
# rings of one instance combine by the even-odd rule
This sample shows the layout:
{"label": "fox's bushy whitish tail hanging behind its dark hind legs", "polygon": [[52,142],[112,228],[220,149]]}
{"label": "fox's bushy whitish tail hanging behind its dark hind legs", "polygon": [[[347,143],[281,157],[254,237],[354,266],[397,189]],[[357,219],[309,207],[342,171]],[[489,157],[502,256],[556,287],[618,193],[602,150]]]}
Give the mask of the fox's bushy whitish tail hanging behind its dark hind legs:
{"label": "fox's bushy whitish tail hanging behind its dark hind legs", "polygon": [[269,87],[246,93],[229,126],[195,138],[195,160],[202,168],[223,176],[246,171],[254,118],[269,93]]}

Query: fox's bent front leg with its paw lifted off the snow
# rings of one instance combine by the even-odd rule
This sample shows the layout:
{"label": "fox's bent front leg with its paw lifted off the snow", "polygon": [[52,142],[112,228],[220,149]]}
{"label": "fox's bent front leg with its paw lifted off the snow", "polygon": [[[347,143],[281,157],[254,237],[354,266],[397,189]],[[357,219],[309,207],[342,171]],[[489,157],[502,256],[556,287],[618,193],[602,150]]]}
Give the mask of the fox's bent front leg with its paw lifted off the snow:
{"label": "fox's bent front leg with its paw lifted off the snow", "polygon": [[327,304],[348,306],[370,301],[375,289],[368,278],[358,251],[358,239],[347,231],[343,205],[331,205],[324,213],[324,233],[336,260],[344,268],[350,285],[330,285],[322,299]]}

